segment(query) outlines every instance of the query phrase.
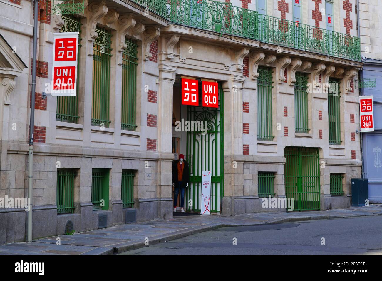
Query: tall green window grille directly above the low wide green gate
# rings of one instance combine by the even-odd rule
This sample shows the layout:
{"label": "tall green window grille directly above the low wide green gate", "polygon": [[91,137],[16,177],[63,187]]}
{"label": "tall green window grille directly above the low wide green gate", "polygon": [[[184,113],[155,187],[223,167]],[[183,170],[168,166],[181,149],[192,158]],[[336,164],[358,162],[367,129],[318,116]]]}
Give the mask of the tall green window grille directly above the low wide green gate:
{"label": "tall green window grille directly above the low wide green gate", "polygon": [[295,131],[308,133],[308,76],[297,72],[295,78]]}

